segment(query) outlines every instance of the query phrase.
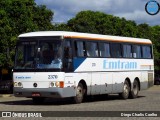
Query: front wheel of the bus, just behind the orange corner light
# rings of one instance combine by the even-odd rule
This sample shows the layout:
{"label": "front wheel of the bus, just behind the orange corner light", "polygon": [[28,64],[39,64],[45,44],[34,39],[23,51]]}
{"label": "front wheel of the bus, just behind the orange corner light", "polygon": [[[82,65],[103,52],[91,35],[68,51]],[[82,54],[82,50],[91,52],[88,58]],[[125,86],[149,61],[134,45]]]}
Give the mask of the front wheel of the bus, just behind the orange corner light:
{"label": "front wheel of the bus, just behind the orange corner light", "polygon": [[84,98],[84,88],[82,83],[79,83],[76,89],[76,96],[73,98],[73,102],[79,104],[83,101]]}

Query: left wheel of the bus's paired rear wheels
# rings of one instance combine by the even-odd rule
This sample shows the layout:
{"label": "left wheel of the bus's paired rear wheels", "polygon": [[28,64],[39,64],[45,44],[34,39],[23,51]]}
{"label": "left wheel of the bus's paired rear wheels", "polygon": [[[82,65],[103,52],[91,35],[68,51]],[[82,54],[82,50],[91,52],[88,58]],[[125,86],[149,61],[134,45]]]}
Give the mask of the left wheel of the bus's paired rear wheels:
{"label": "left wheel of the bus's paired rear wheels", "polygon": [[122,99],[127,99],[129,97],[129,92],[130,92],[130,86],[128,81],[125,80],[123,85],[123,92],[120,93],[119,95]]}

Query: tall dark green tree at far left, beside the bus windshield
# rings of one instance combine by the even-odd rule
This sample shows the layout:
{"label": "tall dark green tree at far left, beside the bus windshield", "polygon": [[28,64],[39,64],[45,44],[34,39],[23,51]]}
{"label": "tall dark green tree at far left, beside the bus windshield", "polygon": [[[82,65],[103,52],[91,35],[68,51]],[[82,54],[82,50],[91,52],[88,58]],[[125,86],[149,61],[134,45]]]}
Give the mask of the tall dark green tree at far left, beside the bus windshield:
{"label": "tall dark green tree at far left, beside the bus windshield", "polygon": [[53,29],[52,17],[51,10],[34,0],[0,0],[0,67],[13,66],[19,34]]}

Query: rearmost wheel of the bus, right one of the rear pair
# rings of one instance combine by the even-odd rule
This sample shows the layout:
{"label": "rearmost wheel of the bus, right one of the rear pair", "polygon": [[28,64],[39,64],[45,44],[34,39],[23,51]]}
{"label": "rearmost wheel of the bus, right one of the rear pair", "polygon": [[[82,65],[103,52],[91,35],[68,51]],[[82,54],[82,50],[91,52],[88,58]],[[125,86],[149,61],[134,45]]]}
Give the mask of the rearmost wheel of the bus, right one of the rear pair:
{"label": "rearmost wheel of the bus, right one of the rear pair", "polygon": [[134,99],[138,97],[139,93],[139,83],[137,80],[134,80],[133,82],[133,89],[130,91],[129,98]]}

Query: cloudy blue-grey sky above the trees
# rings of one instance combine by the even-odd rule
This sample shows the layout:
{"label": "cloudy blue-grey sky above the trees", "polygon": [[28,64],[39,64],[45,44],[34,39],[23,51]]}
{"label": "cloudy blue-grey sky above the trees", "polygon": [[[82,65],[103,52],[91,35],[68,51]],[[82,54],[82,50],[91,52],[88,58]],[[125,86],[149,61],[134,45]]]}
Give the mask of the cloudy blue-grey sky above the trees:
{"label": "cloudy blue-grey sky above the trees", "polygon": [[[149,15],[145,5],[150,0],[35,0],[37,5],[46,5],[54,12],[53,23],[66,23],[84,10],[100,11],[137,24],[160,25],[160,12]],[[156,0],[160,4],[160,0]]]}

